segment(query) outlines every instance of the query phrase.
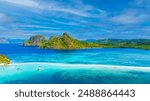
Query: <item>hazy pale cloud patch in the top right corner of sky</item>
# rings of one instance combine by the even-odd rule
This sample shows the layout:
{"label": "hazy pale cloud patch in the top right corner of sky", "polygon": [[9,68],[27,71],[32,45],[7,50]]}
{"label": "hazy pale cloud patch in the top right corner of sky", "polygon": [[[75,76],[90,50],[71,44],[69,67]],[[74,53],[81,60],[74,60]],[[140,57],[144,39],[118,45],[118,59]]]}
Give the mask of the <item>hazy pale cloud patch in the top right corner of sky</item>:
{"label": "hazy pale cloud patch in the top right corner of sky", "polygon": [[150,0],[133,0],[128,7],[113,16],[111,21],[119,24],[140,24],[149,21]]}

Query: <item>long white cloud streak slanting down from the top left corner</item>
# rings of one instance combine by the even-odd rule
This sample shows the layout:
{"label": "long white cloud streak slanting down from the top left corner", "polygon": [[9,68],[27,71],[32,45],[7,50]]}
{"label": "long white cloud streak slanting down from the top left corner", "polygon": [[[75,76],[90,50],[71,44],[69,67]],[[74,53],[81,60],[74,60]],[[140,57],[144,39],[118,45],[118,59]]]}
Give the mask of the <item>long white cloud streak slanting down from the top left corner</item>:
{"label": "long white cloud streak slanting down from the top left corner", "polygon": [[[72,1],[70,3],[57,2],[50,0],[48,2],[37,1],[37,0],[0,0],[0,2],[9,3],[20,7],[30,7],[39,10],[51,11],[51,12],[62,12],[65,14],[73,14],[82,17],[99,17],[105,14],[105,11],[97,9],[90,5],[85,5],[81,1]],[[29,8],[27,8],[29,9]],[[29,9],[31,10],[31,9]],[[95,14],[90,13],[91,11],[96,12]]]}

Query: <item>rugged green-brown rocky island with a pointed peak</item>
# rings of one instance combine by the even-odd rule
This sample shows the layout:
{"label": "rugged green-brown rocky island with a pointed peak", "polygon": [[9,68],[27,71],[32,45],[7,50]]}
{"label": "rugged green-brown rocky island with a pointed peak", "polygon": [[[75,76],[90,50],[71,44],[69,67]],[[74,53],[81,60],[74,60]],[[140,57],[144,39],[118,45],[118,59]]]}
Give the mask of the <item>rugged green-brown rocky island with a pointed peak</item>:
{"label": "rugged green-brown rocky island with a pointed peak", "polygon": [[30,37],[23,43],[24,46],[38,46],[40,48],[50,49],[81,49],[81,48],[94,48],[100,47],[99,44],[93,42],[79,41],[69,36],[68,33],[63,33],[62,36],[51,36],[49,40],[41,35]]}

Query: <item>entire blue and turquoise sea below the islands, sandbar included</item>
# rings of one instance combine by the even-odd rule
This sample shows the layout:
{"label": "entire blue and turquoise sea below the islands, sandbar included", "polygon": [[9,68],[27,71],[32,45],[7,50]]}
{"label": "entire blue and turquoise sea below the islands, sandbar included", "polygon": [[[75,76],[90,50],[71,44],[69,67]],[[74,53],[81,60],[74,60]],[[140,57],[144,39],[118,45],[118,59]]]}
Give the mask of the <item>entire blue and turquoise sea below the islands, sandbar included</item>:
{"label": "entire blue and turquoise sea below the islands, sandbar included", "polygon": [[1,84],[150,84],[149,50],[0,44],[0,54],[11,60],[10,65],[0,66]]}

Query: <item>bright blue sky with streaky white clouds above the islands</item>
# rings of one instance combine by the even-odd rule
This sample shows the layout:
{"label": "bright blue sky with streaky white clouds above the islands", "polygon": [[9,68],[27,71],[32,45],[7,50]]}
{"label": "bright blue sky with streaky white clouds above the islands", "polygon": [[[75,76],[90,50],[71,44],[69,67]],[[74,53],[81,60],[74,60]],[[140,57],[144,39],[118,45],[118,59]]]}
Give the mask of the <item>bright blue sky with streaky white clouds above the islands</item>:
{"label": "bright blue sky with streaky white clouds above the islands", "polygon": [[150,39],[150,0],[0,0],[0,38],[68,32],[86,39]]}

